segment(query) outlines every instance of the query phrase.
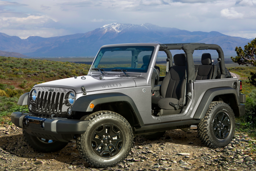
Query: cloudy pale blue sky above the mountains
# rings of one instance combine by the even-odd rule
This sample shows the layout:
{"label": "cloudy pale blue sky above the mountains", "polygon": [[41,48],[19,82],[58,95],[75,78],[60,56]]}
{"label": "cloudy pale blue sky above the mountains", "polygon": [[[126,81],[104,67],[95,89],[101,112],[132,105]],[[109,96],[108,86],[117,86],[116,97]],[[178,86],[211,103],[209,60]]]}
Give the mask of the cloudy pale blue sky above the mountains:
{"label": "cloudy pale blue sky above the mountains", "polygon": [[0,32],[26,39],[151,23],[256,37],[256,0],[0,0]]}

